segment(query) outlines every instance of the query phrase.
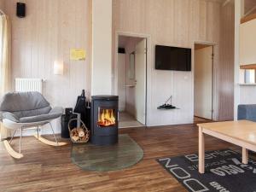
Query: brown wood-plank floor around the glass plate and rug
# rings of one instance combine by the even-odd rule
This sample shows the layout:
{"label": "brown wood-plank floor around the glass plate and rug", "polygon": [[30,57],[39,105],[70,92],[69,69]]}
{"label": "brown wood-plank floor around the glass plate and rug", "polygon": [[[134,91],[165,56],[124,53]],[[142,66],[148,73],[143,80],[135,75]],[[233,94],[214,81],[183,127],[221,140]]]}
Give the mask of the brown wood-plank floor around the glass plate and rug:
{"label": "brown wood-plank floor around the glass plate and rug", "polygon": [[[155,160],[160,157],[195,153],[198,131],[195,125],[124,129],[144,150],[136,166],[117,172],[84,172],[72,164],[70,145],[61,148],[23,140],[24,158],[14,160],[0,144],[0,191],[186,191]],[[18,144],[18,140],[15,140]],[[233,147],[206,137],[206,150]]]}

